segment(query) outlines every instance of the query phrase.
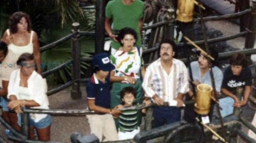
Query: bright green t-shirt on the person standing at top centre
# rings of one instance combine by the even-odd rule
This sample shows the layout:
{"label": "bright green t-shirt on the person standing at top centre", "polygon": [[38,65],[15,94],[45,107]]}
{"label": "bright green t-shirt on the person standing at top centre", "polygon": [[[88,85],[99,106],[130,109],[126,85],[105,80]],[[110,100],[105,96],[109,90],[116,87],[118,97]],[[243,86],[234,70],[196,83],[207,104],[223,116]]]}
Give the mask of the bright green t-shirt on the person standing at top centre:
{"label": "bright green t-shirt on the person standing at top centre", "polygon": [[[138,39],[136,46],[141,47],[139,20],[142,19],[144,12],[144,3],[136,0],[130,5],[125,5],[122,0],[111,0],[106,6],[105,16],[113,20],[113,30],[120,30],[124,27],[130,27],[137,33]],[[111,47],[118,49],[121,45],[112,40]]]}

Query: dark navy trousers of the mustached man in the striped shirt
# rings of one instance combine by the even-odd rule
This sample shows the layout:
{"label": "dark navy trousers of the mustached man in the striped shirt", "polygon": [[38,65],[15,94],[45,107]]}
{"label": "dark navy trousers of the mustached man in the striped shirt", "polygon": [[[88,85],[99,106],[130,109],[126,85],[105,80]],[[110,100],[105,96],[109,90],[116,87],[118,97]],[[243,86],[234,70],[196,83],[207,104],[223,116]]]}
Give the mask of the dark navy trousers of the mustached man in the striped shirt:
{"label": "dark navy trousers of the mustached man in the striped shirt", "polygon": [[180,108],[177,107],[155,107],[153,111],[154,120],[152,127],[160,127],[162,125],[171,124],[180,121]]}

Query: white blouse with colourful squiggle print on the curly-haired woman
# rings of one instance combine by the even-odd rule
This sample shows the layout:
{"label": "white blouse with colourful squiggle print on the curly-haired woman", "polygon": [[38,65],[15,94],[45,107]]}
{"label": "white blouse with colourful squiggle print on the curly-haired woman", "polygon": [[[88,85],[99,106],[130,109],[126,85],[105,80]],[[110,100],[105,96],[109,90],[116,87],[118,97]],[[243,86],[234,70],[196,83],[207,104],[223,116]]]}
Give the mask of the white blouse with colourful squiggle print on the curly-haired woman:
{"label": "white blouse with colourful squiggle print on the curly-haired woman", "polygon": [[116,67],[115,76],[131,76],[140,78],[140,67],[143,64],[142,48],[140,52],[138,48],[130,52],[117,50],[110,56],[111,63]]}

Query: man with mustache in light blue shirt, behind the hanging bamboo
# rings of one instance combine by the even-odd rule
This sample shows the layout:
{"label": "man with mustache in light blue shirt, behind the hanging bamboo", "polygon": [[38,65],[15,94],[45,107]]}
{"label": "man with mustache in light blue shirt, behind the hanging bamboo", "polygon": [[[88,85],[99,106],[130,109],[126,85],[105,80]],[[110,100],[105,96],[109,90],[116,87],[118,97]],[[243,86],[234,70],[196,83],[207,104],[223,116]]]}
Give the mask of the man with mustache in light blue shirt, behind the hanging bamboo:
{"label": "man with mustache in light blue shirt, behind the hanging bamboo", "polygon": [[[214,61],[207,59],[205,55],[200,52],[198,54],[198,61],[190,63],[192,77],[194,80],[192,82],[194,82],[196,85],[204,83],[212,86],[212,80],[210,76],[210,67],[212,66],[216,91],[219,93],[222,84],[223,74],[222,71],[216,66],[218,63],[218,52],[216,52],[214,49],[210,49],[210,54],[215,59]],[[192,96],[194,96],[192,90],[188,92],[188,95],[189,96],[186,96],[186,100],[189,100]],[[195,118],[196,114],[194,112],[194,105],[187,105],[184,111],[184,119],[188,122],[195,122]]]}

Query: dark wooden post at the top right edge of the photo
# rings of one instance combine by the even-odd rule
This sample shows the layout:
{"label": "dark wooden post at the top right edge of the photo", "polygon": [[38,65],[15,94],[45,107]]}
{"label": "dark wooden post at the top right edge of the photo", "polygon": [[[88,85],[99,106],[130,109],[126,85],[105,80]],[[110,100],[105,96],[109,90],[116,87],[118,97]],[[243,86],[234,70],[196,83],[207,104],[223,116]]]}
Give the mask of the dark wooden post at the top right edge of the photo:
{"label": "dark wooden post at the top right edge of the photo", "polygon": [[247,30],[249,33],[246,35],[245,48],[252,49],[256,37],[256,0],[252,0],[252,11],[250,12],[250,21]]}

